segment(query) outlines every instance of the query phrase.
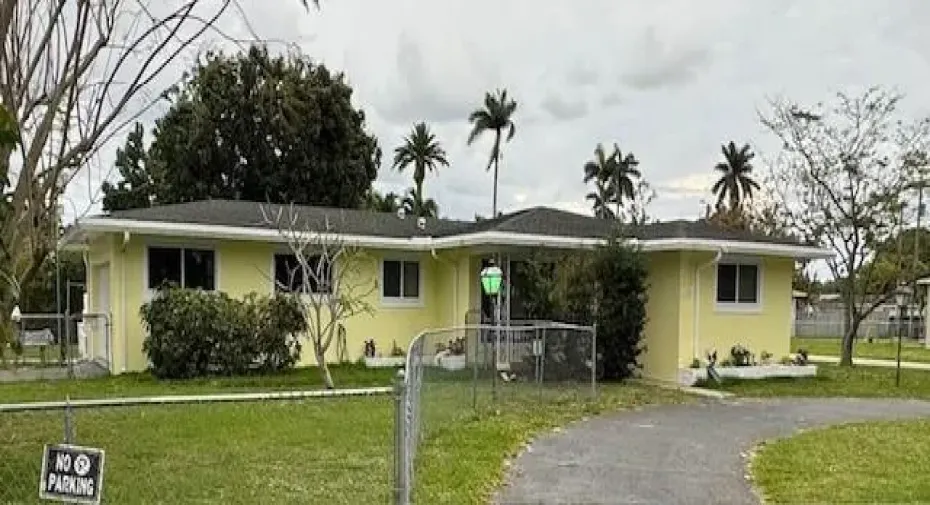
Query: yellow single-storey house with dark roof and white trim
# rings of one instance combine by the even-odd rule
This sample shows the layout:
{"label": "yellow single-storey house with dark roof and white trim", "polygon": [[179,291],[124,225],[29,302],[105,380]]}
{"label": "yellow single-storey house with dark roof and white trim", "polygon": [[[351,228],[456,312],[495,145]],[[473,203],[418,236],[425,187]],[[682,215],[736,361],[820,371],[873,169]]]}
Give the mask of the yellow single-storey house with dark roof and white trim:
{"label": "yellow single-storey house with dark roof and white trim", "polygon": [[[86,251],[89,311],[112,317],[106,357],[111,372],[146,367],[139,308],[163,281],[235,297],[275,289],[289,251],[263,219],[261,205],[211,200],[119,211],[81,219],[68,230],[64,242]],[[376,313],[346,322],[351,360],[362,355],[367,339],[387,351],[394,341],[406,346],[424,329],[465,324],[487,307],[479,272],[492,254],[518,259],[535,248],[587,249],[603,243],[612,227],[610,221],[541,207],[478,222],[296,209],[301,222],[328,222],[373,258],[361,275],[377,284],[369,300]],[[666,380],[676,380],[680,367],[703,360],[711,349],[722,359],[737,343],[757,355],[788,354],[795,261],[831,254],[704,221],[650,224],[631,228],[629,235],[649,265],[644,371]],[[513,310],[509,305],[505,317]],[[312,363],[310,354],[305,364]],[[336,359],[335,349],[328,359]]]}

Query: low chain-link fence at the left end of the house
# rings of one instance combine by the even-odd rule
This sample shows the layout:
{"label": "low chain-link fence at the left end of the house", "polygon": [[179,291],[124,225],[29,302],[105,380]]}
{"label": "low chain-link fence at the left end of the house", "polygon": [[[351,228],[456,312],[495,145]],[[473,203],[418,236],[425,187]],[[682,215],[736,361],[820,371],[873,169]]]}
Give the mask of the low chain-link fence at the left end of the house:
{"label": "low chain-link fence at the left end of the house", "polygon": [[110,329],[107,314],[21,314],[12,341],[0,344],[0,381],[106,374]]}

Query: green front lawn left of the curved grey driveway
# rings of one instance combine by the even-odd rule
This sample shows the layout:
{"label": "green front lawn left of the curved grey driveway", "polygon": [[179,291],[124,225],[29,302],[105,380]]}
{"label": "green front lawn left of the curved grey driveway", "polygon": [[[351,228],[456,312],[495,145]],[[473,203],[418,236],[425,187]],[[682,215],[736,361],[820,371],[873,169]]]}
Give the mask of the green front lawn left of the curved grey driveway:
{"label": "green front lawn left of the curved grey driveway", "polygon": [[[314,387],[319,381],[311,372],[170,384],[119,377],[88,381],[87,388],[3,386],[0,394],[10,400],[57,398],[62,387],[83,390],[84,397]],[[334,374],[345,386],[386,385],[392,372],[345,367]],[[417,503],[485,503],[500,484],[503,460],[534,433],[605,409],[684,400],[642,385],[604,385],[596,403],[586,400],[584,388],[550,389],[542,398],[522,384],[498,391],[492,405],[482,385],[475,412],[470,384],[454,377],[424,384]],[[390,503],[390,396],[77,409],[75,416],[76,441],[107,451],[108,503]],[[61,436],[60,413],[0,414],[0,503],[37,502],[42,445]]]}

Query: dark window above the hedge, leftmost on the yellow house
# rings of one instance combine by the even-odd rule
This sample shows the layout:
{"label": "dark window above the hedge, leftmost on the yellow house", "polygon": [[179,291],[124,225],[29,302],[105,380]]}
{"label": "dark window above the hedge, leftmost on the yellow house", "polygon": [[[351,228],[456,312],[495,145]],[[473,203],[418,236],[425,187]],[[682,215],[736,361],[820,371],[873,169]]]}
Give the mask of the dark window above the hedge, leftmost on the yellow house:
{"label": "dark window above the hedge, leftmost on the yellow house", "polygon": [[149,289],[165,284],[183,288],[216,289],[216,256],[208,249],[149,247]]}

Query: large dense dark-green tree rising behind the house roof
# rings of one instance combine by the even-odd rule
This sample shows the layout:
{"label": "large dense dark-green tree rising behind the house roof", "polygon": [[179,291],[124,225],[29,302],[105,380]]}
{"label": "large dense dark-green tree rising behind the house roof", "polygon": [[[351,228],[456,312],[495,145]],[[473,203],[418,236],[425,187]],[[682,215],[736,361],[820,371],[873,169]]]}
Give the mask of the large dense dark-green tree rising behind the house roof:
{"label": "large dense dark-green tree rising behind the house roof", "polygon": [[[150,201],[364,205],[381,151],[342,74],[252,46],[208,53],[166,96],[171,106],[156,121],[144,164]],[[107,196],[144,202],[124,197],[133,190],[117,186]]]}

